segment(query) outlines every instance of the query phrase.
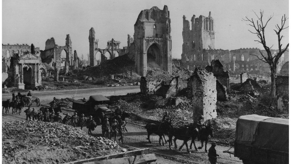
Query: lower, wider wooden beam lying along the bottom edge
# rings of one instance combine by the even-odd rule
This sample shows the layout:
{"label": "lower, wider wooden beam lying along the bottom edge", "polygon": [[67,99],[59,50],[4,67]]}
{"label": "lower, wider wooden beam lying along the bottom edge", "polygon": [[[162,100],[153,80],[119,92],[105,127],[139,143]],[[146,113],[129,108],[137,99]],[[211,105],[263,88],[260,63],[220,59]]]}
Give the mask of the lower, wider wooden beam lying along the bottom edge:
{"label": "lower, wider wooden beam lying along the bottom edge", "polygon": [[123,158],[115,158],[115,159],[109,159],[109,160],[101,160],[101,161],[94,161],[94,162],[86,162],[83,164],[129,164],[135,163],[135,164],[143,164],[143,163],[151,163],[155,162],[157,160],[157,157],[155,154],[143,154],[143,155],[137,155],[136,157],[123,157]]}

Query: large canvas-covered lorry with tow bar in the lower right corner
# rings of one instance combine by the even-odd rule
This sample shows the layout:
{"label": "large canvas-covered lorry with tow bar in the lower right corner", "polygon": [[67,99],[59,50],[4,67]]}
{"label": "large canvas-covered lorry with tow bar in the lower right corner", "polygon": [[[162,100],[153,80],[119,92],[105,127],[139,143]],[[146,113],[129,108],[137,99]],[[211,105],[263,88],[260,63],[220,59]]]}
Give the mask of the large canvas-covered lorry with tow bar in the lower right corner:
{"label": "large canvas-covered lorry with tow bar in the lower right corner", "polygon": [[236,122],[234,151],[244,164],[287,164],[289,162],[289,119],[241,116]]}

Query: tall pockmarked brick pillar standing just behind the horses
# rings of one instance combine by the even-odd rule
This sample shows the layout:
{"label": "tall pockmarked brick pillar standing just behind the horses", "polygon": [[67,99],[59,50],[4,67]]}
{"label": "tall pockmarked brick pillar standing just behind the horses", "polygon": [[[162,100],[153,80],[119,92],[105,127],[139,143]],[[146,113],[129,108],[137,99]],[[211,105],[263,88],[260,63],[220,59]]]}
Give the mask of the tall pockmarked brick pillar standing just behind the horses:
{"label": "tall pockmarked brick pillar standing just behind the horses", "polygon": [[203,68],[196,68],[193,76],[193,120],[203,115],[205,120],[216,118],[216,78]]}

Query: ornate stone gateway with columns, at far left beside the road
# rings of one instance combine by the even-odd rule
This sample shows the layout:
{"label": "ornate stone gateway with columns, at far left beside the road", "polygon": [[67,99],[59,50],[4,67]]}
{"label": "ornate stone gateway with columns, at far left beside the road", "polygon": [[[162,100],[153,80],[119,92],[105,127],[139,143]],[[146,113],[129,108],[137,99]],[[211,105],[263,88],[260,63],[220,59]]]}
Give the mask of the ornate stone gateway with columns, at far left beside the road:
{"label": "ornate stone gateway with columns, at far left beside the road", "polygon": [[10,63],[10,84],[19,89],[32,89],[41,85],[41,70],[46,68],[41,64],[40,53],[29,51],[16,53]]}

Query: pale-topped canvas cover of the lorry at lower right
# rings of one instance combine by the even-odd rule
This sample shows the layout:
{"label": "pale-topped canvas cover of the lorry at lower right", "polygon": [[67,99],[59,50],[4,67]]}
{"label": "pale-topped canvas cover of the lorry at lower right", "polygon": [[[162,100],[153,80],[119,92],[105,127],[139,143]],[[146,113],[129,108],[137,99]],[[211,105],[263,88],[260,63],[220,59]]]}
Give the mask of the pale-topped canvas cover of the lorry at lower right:
{"label": "pale-topped canvas cover of the lorry at lower right", "polygon": [[289,152],[289,119],[241,116],[236,122],[235,141],[273,151]]}

